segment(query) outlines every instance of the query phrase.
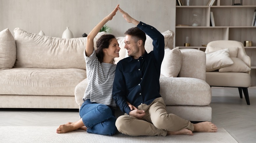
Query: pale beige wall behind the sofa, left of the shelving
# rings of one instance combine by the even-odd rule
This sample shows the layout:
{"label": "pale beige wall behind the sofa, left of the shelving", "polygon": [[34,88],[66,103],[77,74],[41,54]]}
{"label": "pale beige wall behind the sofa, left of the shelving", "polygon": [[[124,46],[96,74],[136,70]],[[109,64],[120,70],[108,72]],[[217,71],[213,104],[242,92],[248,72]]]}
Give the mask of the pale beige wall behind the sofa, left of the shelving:
{"label": "pale beige wall behind the sofa, left of the shelving", "polygon": [[[108,15],[117,4],[138,21],[160,32],[175,32],[176,0],[0,0],[0,31],[19,27],[31,33],[43,30],[46,36],[61,37],[66,26],[74,37],[82,37]],[[117,12],[107,23],[115,36],[133,24],[128,24]]]}

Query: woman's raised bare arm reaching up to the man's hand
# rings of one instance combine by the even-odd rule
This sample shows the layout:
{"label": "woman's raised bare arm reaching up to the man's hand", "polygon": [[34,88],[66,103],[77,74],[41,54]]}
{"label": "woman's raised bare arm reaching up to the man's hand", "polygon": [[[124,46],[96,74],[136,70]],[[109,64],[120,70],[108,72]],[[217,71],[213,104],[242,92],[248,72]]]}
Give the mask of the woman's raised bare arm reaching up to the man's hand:
{"label": "woman's raised bare arm reaching up to the man's hand", "polygon": [[[117,5],[117,7],[119,4]],[[112,20],[112,18],[116,15],[117,12],[117,7],[106,17],[103,18],[103,20],[98,23],[93,30],[88,34],[87,36],[87,42],[86,42],[86,47],[85,47],[85,54],[86,56],[91,56],[93,54],[94,50],[94,42],[93,39],[96,37],[98,34],[99,30],[106,24],[108,21]]]}

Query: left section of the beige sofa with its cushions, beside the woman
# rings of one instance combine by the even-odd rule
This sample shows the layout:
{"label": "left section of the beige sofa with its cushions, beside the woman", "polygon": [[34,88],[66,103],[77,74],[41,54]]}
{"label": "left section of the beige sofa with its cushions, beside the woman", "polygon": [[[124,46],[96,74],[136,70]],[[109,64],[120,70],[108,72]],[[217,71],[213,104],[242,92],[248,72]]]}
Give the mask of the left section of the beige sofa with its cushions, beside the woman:
{"label": "left section of the beige sofa with its cushions, beside the woman", "polygon": [[79,108],[86,38],[61,39],[14,29],[0,32],[0,108]]}

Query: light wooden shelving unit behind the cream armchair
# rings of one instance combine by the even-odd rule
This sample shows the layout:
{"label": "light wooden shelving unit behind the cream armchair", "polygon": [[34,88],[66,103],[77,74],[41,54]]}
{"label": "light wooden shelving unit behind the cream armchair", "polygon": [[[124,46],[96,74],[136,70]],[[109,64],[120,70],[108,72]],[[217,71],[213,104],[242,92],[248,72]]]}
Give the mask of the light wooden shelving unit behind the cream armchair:
{"label": "light wooden shelving unit behind the cream armchair", "polygon": [[[210,41],[236,40],[252,41],[252,47],[245,47],[251,58],[251,85],[256,88],[256,26],[251,26],[255,0],[243,0],[242,6],[232,6],[231,0],[215,0],[213,6],[206,6],[209,0],[191,0],[190,6],[176,6],[175,47],[194,48],[205,51]],[[239,1],[240,2],[240,1]],[[210,12],[213,12],[215,26],[210,26]],[[198,15],[198,26],[191,26]],[[185,37],[190,47],[184,47]]]}

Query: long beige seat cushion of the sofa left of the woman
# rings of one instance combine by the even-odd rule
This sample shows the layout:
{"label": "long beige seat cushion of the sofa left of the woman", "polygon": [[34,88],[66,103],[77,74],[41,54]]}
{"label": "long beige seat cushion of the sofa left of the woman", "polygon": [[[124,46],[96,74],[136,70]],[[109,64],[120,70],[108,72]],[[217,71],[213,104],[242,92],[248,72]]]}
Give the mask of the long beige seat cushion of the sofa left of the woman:
{"label": "long beige seat cushion of the sofa left of the woman", "polygon": [[85,78],[82,69],[0,70],[0,94],[74,96],[75,86]]}

